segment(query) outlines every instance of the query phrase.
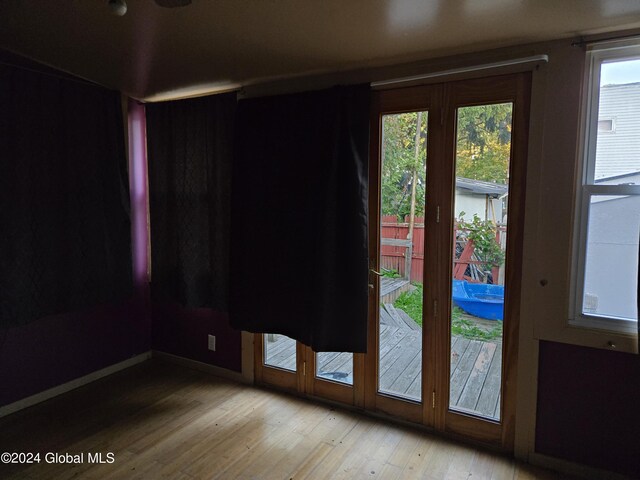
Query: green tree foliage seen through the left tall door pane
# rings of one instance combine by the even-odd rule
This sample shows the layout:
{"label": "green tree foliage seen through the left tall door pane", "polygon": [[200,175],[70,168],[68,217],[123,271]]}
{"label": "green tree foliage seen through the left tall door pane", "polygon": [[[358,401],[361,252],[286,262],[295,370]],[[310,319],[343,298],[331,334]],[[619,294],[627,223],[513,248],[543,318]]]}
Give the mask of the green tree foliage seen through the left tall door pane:
{"label": "green tree foliage seen through the left tall door pane", "polygon": [[411,208],[411,183],[416,170],[416,216],[424,215],[427,158],[427,114],[420,121],[418,158],[416,128],[418,113],[385,115],[382,122],[382,215],[404,221]]}

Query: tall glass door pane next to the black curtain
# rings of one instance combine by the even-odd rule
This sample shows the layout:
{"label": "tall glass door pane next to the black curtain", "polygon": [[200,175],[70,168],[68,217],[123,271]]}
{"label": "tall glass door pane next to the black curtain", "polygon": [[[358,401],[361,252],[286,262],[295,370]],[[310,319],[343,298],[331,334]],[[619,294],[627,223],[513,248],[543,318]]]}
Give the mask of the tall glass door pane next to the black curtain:
{"label": "tall glass door pane next to the black curtain", "polygon": [[427,112],[382,116],[378,392],[422,400]]}

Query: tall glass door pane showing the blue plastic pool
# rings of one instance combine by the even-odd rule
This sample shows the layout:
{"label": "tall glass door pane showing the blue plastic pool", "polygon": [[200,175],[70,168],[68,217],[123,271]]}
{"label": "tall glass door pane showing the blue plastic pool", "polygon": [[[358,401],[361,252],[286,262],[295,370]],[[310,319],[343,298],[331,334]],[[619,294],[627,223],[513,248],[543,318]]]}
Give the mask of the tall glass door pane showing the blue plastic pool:
{"label": "tall glass door pane showing the blue plastic pool", "polygon": [[501,418],[512,103],[457,109],[449,409]]}

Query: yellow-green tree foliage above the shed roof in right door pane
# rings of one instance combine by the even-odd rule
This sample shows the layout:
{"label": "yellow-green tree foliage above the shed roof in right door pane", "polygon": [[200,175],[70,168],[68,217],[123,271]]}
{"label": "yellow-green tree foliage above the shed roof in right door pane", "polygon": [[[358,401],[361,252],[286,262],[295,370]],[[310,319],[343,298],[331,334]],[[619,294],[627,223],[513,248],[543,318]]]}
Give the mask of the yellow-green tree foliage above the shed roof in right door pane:
{"label": "yellow-green tree foliage above the shed roof in right door pane", "polygon": [[511,103],[458,109],[457,176],[507,184],[511,112]]}

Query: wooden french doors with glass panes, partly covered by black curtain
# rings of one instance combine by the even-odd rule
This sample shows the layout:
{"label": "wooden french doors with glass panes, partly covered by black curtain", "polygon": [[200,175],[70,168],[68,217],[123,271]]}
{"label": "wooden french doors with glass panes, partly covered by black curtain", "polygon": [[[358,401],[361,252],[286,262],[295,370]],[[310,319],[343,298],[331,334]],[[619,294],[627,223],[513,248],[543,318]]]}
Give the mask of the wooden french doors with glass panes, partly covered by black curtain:
{"label": "wooden french doors with glass panes, partly covered by black curtain", "polygon": [[259,382],[512,450],[529,90],[374,92],[368,353],[259,335]]}

